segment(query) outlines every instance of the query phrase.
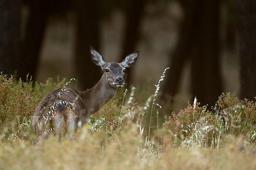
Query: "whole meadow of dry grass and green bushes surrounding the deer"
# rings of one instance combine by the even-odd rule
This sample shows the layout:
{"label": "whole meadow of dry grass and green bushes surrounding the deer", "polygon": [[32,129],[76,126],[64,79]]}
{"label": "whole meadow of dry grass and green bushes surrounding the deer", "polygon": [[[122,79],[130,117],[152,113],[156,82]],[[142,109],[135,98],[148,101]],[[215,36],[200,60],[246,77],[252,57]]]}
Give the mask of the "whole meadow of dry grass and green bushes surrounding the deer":
{"label": "whole meadow of dry grass and green bushes surrounding the deer", "polygon": [[210,107],[195,98],[162,121],[168,107],[158,104],[163,80],[164,73],[145,101],[137,101],[136,88],[120,89],[73,140],[57,140],[47,130],[39,143],[31,123],[35,107],[69,81],[38,83],[27,76],[22,82],[1,73],[0,169],[256,169],[255,102],[227,93]]}

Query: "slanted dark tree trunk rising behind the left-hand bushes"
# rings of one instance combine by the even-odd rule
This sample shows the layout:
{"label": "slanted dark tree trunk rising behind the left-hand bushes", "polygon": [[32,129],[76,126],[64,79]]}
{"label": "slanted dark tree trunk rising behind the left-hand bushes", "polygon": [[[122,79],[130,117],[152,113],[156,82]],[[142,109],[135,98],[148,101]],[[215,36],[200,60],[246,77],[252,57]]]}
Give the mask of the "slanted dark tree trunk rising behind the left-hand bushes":
{"label": "slanted dark tree trunk rising behind the left-hand bushes", "polygon": [[31,1],[23,45],[23,69],[18,74],[24,81],[27,74],[35,76],[48,16],[48,0]]}

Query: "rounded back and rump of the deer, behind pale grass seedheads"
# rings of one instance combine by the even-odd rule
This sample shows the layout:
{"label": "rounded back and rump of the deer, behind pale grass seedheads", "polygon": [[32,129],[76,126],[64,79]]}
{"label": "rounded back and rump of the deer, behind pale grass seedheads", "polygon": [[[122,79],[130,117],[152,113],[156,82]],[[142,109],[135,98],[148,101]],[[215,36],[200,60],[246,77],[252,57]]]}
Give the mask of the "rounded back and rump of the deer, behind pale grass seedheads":
{"label": "rounded back and rump of the deer, behind pale grass seedheads", "polygon": [[[37,135],[54,131],[58,136],[73,133],[78,122],[86,119],[84,103],[78,91],[57,88],[41,100],[33,116],[33,128]],[[68,135],[67,135],[68,136]]]}

